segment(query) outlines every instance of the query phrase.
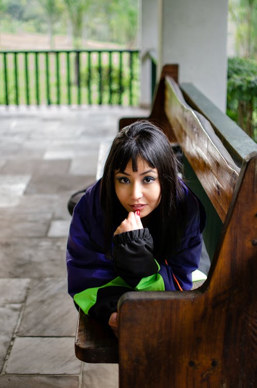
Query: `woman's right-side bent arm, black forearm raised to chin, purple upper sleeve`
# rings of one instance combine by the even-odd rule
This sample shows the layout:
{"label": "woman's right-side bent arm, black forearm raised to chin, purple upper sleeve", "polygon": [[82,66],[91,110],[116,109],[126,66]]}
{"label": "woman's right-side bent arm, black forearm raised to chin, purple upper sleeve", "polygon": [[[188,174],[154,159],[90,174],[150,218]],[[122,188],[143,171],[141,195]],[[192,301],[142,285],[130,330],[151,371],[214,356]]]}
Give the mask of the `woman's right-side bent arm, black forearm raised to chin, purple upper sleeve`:
{"label": "woman's right-side bent arm, black forearm raised to chin, purple upper sleeve", "polygon": [[[198,268],[206,215],[203,205],[187,191],[187,227],[180,247],[171,257],[154,260],[153,240],[147,228],[123,232],[114,238],[116,271],[135,289],[189,290],[192,272]],[[160,288],[160,278],[163,288]],[[145,282],[145,279],[148,281]]]}

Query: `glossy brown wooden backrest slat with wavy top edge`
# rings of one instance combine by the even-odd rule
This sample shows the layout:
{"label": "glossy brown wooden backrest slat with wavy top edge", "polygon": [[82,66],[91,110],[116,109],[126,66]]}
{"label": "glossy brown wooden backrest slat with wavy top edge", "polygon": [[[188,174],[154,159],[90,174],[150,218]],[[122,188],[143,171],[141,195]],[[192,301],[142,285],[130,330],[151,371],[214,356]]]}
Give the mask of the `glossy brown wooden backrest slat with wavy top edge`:
{"label": "glossy brown wooden backrest slat with wavy top edge", "polygon": [[187,105],[170,77],[166,77],[165,111],[183,153],[224,222],[240,169],[209,121]]}

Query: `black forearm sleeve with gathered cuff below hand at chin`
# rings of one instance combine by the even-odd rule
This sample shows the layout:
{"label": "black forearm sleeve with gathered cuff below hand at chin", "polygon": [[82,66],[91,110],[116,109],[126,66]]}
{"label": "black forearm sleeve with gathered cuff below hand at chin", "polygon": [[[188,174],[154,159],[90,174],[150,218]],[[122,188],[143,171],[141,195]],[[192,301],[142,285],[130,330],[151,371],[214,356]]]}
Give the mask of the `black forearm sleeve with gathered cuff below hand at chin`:
{"label": "black forearm sleeve with gathered cuff below hand at chin", "polygon": [[114,236],[114,263],[117,274],[131,287],[158,271],[153,256],[153,238],[148,228]]}

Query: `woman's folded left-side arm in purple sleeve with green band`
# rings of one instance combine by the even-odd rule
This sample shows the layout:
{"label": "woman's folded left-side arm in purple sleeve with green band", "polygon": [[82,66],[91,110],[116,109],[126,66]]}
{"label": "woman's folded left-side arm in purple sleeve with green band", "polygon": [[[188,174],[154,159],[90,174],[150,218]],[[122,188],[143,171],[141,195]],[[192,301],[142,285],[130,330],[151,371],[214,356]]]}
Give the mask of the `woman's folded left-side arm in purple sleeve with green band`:
{"label": "woman's folded left-side arm in purple sleeve with green band", "polygon": [[101,230],[94,225],[98,215],[91,214],[92,209],[86,197],[74,209],[66,252],[68,292],[86,314],[107,323],[121,294],[131,287],[104,254]]}

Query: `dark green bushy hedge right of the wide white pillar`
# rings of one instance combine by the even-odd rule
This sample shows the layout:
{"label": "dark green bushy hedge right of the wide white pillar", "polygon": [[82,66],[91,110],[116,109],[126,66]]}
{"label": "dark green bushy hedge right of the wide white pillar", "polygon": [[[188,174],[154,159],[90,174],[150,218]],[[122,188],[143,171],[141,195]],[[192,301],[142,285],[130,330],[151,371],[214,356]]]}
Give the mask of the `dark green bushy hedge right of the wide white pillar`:
{"label": "dark green bushy hedge right of the wide white pillar", "polygon": [[257,63],[243,58],[228,60],[227,114],[257,140]]}

